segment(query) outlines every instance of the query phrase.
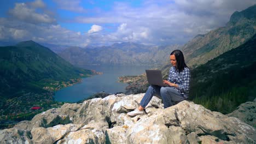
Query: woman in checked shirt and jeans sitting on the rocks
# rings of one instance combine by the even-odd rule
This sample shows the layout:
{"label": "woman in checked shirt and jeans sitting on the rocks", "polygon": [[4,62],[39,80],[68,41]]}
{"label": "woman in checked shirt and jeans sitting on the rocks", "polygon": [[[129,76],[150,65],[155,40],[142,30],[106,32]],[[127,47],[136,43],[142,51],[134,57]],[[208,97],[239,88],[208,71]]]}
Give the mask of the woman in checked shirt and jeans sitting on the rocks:
{"label": "woman in checked shirt and jeans sitting on the rocks", "polygon": [[142,115],[145,107],[152,99],[154,94],[162,97],[164,108],[170,107],[173,104],[188,99],[189,83],[190,83],[190,70],[185,64],[182,51],[174,50],[171,52],[170,61],[172,67],[169,71],[168,80],[164,80],[164,84],[167,86],[160,87],[156,85],[150,85],[138,109],[128,112],[129,116]]}

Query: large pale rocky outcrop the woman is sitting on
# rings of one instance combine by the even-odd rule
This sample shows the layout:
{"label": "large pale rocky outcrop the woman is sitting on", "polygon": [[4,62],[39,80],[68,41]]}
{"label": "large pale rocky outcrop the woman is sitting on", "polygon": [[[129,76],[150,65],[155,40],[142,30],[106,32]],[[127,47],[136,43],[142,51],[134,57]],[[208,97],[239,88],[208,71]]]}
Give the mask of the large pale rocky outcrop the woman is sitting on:
{"label": "large pale rocky outcrop the woman is sitting on", "polygon": [[109,95],[65,104],[0,131],[1,143],[256,143],[256,130],[193,102],[163,109],[153,97],[147,114],[130,117],[144,94]]}

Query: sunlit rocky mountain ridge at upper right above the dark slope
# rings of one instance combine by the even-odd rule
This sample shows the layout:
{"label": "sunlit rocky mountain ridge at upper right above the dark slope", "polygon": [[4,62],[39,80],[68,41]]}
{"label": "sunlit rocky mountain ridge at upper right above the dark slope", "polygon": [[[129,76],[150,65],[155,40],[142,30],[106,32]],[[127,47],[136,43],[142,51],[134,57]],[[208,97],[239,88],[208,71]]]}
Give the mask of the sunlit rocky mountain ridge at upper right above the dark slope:
{"label": "sunlit rocky mountain ridge at upper right above the dark slope", "polygon": [[256,5],[231,15],[225,27],[197,35],[182,47],[189,67],[194,68],[236,48],[256,33]]}

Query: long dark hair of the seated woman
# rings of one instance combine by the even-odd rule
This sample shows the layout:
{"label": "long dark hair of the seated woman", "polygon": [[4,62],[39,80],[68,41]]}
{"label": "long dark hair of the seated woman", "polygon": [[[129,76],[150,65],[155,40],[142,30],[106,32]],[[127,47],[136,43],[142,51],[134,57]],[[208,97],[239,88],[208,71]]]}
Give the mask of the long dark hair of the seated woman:
{"label": "long dark hair of the seated woman", "polygon": [[185,67],[188,67],[186,64],[185,64],[185,59],[184,59],[184,55],[182,53],[181,50],[174,50],[171,52],[170,56],[171,55],[174,55],[175,58],[176,58],[176,69],[179,71],[179,73],[181,71],[184,70]]}

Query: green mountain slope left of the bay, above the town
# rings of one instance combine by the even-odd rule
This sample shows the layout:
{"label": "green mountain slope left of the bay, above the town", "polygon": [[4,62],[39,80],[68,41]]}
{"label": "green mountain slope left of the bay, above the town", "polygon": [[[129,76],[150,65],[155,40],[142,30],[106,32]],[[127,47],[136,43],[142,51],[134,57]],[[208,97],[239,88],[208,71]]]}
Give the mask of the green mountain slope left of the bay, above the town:
{"label": "green mountain slope left of the bay, above the town", "polygon": [[24,89],[42,88],[44,82],[78,78],[90,70],[75,68],[47,47],[33,41],[0,47],[0,95],[12,98]]}

